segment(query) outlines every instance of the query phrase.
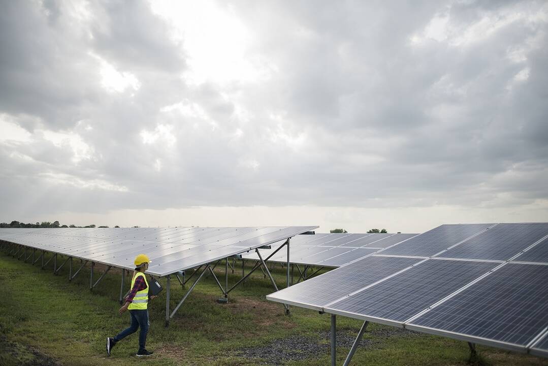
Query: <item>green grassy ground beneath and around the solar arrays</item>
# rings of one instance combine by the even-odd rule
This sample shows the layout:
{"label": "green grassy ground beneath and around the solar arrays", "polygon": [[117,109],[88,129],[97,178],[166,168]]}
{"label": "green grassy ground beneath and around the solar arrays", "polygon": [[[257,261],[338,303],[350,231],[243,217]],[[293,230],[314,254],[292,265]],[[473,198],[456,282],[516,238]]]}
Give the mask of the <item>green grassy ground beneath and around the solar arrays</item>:
{"label": "green grassy ground beneath and around the solar arrays", "polygon": [[[62,268],[59,275],[53,275],[52,269],[52,263],[42,270],[0,252],[0,365],[133,365],[138,333],[119,342],[111,357],[105,351],[106,337],[129,325],[129,314],[119,316],[117,312],[120,273],[109,272],[92,292],[89,268],[71,283],[68,268]],[[217,271],[224,276],[224,265],[222,272]],[[273,274],[283,287],[283,269],[278,266]],[[241,267],[230,276],[230,283],[240,277]],[[125,287],[129,289],[129,279]],[[265,300],[270,292],[269,280],[259,271],[231,292],[228,304],[219,304],[215,300],[221,293],[214,279],[203,278],[165,328],[163,291],[149,304],[147,348],[155,354],[142,362],[330,364],[329,315],[292,307],[290,316],[285,316],[281,305]],[[172,309],[183,294],[172,280]],[[343,363],[360,326],[357,320],[337,317],[338,364]],[[362,343],[353,365],[466,365],[470,356],[466,342],[375,324]],[[545,359],[496,348],[478,346],[478,351],[481,364],[548,365]]]}

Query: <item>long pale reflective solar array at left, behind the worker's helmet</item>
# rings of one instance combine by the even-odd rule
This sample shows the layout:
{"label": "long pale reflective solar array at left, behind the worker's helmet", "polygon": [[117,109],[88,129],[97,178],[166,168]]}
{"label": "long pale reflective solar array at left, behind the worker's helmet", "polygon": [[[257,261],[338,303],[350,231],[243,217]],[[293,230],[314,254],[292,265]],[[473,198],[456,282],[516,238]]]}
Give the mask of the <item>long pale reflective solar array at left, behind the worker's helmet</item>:
{"label": "long pale reflective solar array at left, behind the worker's helmet", "polygon": [[134,268],[136,255],[146,253],[151,259],[147,273],[163,276],[315,228],[3,228],[0,240],[127,269]]}

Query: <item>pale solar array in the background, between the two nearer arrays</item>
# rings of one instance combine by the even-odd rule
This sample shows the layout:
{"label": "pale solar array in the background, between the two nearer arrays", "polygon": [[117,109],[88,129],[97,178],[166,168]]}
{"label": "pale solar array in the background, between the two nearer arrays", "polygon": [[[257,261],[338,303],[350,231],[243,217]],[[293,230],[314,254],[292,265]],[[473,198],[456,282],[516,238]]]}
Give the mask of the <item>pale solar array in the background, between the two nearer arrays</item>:
{"label": "pale solar array in the background, between the two nearer arrays", "polygon": [[[344,264],[373,254],[381,249],[413,238],[418,234],[315,234],[299,235],[290,241],[289,259],[291,263],[305,266],[340,267]],[[261,256],[268,257],[275,249],[261,249]],[[250,260],[258,260],[255,253],[243,255]],[[287,251],[280,251],[269,261],[287,262]]]}

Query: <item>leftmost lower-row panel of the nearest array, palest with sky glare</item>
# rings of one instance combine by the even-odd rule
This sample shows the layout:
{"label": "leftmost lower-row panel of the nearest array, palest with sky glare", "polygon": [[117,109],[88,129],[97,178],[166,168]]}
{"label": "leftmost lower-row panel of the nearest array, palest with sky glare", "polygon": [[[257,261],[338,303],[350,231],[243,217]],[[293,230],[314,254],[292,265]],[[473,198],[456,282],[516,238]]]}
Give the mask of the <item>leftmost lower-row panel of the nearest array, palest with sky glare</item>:
{"label": "leftmost lower-row panel of the nearest array, palest with sky glare", "polygon": [[329,302],[419,262],[415,258],[366,257],[268,295],[268,300],[321,310]]}

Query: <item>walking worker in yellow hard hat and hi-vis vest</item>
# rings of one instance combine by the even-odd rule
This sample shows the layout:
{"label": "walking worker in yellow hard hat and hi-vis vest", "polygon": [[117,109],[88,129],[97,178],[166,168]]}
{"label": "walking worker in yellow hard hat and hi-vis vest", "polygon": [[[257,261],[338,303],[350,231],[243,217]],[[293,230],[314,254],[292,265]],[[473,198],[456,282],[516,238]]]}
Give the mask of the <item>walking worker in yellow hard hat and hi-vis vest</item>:
{"label": "walking worker in yellow hard hat and hi-vis vest", "polygon": [[[149,269],[149,257],[145,254],[139,254],[135,257],[135,272],[133,272],[132,289],[129,295],[125,297],[124,306],[122,306],[118,313],[122,314],[126,310],[129,310],[132,322],[129,328],[122,330],[115,337],[106,339],[106,352],[110,356],[112,347],[116,345],[118,341],[121,341],[130,334],[133,334],[137,329],[141,328],[139,333],[139,351],[136,356],[150,356],[153,352],[149,352],[145,348],[146,334],[149,331],[149,311],[147,310],[147,304],[149,302],[149,283],[146,280],[145,271]],[[150,299],[154,299],[156,296],[151,295]]]}

